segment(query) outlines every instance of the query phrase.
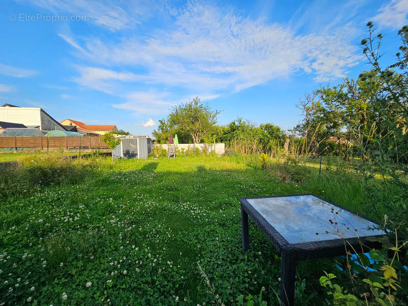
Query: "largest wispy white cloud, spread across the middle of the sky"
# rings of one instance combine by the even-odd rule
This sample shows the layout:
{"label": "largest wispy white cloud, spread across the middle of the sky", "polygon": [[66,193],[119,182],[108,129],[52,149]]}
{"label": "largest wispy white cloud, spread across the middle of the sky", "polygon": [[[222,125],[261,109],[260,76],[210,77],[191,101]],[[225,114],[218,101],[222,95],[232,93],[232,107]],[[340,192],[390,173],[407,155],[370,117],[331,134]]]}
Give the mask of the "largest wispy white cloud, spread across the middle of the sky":
{"label": "largest wispy white cloud, spread across the middle of the sky", "polygon": [[[355,31],[348,24],[298,34],[284,24],[250,20],[231,9],[196,3],[175,12],[174,19],[166,30],[143,38],[119,42],[89,38],[83,46],[64,39],[98,65],[146,70],[144,75],[122,72],[125,80],[112,77],[110,81],[163,84],[210,94],[240,91],[288,79],[294,73],[311,73],[317,82],[342,78],[361,60],[359,47],[350,42]],[[108,79],[89,80],[92,75],[82,73],[77,78],[82,85],[112,92]]]}

